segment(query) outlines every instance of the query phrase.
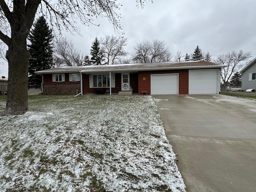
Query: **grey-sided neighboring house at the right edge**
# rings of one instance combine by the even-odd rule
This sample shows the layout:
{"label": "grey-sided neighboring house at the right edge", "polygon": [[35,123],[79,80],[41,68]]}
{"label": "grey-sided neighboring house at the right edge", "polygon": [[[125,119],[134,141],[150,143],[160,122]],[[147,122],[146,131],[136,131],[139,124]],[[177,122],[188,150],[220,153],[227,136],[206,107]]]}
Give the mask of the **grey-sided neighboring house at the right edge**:
{"label": "grey-sided neighboring house at the right edge", "polygon": [[256,58],[238,73],[242,74],[242,90],[256,90]]}

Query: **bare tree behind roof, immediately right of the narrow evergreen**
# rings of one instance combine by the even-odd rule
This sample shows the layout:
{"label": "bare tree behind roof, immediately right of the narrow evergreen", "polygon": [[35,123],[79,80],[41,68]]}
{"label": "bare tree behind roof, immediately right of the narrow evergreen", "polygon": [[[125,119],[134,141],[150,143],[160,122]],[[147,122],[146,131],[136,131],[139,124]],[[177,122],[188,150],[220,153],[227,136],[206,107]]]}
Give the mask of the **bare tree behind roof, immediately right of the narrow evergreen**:
{"label": "bare tree behind roof, immediately right of the narrow evergreen", "polygon": [[114,35],[106,35],[104,38],[100,38],[101,50],[106,58],[106,64],[115,64],[116,59],[120,59],[126,56],[128,53],[124,50],[124,46],[127,45],[127,38],[116,37]]}

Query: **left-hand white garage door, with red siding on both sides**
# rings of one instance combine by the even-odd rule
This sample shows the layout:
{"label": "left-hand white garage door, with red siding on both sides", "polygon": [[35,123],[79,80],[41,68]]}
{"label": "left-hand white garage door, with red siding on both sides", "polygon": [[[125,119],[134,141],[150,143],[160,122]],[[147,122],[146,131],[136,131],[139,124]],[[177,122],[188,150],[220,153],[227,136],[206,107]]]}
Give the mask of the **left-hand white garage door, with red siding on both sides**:
{"label": "left-hand white garage door, with red siding on both sides", "polygon": [[151,75],[151,94],[178,94],[178,74]]}

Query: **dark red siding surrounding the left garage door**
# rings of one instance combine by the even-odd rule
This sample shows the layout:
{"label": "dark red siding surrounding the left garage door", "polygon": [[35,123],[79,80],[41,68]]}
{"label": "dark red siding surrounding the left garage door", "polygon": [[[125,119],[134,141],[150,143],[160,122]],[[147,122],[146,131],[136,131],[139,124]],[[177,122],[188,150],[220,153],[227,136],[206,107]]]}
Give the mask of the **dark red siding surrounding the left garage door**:
{"label": "dark red siding surrounding the left garage door", "polygon": [[151,74],[179,74],[179,94],[188,94],[188,70],[164,70],[164,71],[142,71],[138,73],[138,93],[142,91],[150,92]]}

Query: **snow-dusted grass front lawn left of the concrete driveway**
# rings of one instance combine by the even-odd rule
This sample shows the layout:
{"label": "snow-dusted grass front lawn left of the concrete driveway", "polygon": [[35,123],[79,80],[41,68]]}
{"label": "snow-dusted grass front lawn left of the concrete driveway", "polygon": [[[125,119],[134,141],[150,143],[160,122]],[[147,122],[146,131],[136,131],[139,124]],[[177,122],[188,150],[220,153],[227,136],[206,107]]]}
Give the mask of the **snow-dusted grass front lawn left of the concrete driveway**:
{"label": "snow-dusted grass front lawn left of the concrete driveway", "polygon": [[185,191],[151,96],[31,96],[29,106],[0,117],[0,191]]}

